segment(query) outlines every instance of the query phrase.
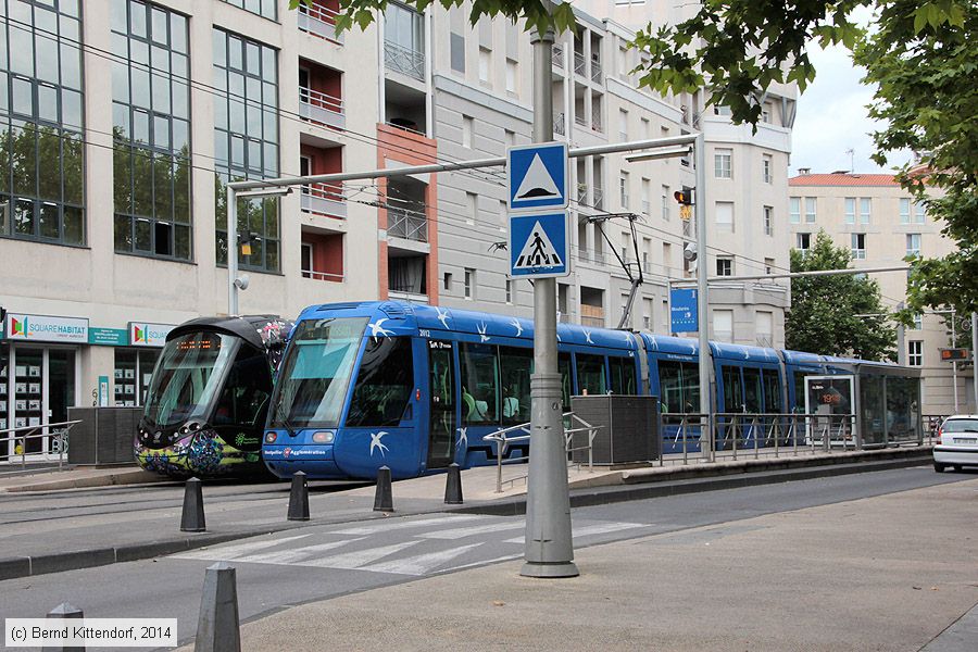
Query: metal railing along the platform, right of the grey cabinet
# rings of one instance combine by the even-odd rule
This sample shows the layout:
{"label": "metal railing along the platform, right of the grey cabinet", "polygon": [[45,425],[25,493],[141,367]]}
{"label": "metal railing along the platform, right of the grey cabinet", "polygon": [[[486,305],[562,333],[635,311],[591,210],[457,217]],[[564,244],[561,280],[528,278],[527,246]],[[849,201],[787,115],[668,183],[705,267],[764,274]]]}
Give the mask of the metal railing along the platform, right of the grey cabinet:
{"label": "metal railing along the platform, right of the grey cabinet", "polygon": [[[715,455],[729,460],[744,454],[777,457],[785,453],[831,453],[864,448],[856,436],[855,414],[720,412],[713,415],[710,426],[704,426],[707,418],[695,413],[662,413],[660,465],[666,461],[688,464],[689,455],[700,455],[704,443]],[[705,441],[704,428],[709,435]]]}

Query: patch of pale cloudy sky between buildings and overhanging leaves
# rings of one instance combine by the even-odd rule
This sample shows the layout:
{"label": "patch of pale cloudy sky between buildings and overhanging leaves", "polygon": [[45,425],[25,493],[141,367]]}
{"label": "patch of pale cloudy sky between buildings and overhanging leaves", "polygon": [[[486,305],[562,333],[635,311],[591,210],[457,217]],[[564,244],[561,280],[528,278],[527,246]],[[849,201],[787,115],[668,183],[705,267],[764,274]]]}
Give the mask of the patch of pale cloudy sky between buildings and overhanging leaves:
{"label": "patch of pale cloudy sky between buildings and overhanging leaves", "polygon": [[[815,65],[816,77],[798,101],[798,115],[791,136],[792,176],[799,167],[813,173],[838,170],[862,173],[885,173],[905,163],[906,154],[891,156],[886,168],[874,163],[875,151],[869,133],[877,130],[866,104],[873,89],[860,84],[863,68],[852,63],[849,51],[839,47],[822,50],[813,45],[808,57]],[[847,150],[852,149],[853,154]]]}

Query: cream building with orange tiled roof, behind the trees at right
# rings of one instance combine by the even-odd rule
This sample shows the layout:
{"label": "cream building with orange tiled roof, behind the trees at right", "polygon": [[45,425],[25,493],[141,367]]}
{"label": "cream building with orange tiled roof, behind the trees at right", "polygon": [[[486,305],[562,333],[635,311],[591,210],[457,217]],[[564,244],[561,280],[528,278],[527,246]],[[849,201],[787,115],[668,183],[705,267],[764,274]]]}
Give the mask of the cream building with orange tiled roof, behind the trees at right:
{"label": "cream building with orange tiled roof, behind the trees at right", "polygon": [[[906,256],[942,256],[954,244],[889,174],[801,174],[789,180],[789,228],[795,249],[804,251],[825,229],[836,244],[852,251],[855,268],[905,264]],[[906,274],[874,274],[882,303],[896,310],[906,299]],[[970,367],[955,369],[940,359],[940,349],[951,346],[952,315],[926,312],[904,333],[901,362],[920,367],[923,414],[952,414],[974,410]],[[967,316],[955,315],[953,329],[962,346],[970,340]],[[956,381],[955,381],[956,375]],[[956,389],[955,389],[956,387]],[[955,404],[955,392],[957,396]]]}

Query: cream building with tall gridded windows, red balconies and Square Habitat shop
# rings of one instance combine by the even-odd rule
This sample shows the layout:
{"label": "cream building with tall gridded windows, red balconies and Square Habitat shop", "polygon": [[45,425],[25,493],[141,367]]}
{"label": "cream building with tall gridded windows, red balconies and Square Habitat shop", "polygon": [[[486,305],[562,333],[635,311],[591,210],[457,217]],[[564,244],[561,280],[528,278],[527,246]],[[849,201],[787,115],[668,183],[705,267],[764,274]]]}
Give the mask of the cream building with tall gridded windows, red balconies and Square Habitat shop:
{"label": "cream building with tall gridded windows, red balconies and Square Habitat shop", "polygon": [[[348,77],[378,70],[378,32],[337,38],[335,9],[0,2],[0,430],[139,404],[168,330],[227,312],[228,180],[399,147],[376,85]],[[240,310],[379,297],[376,201],[374,184],[242,200]]]}

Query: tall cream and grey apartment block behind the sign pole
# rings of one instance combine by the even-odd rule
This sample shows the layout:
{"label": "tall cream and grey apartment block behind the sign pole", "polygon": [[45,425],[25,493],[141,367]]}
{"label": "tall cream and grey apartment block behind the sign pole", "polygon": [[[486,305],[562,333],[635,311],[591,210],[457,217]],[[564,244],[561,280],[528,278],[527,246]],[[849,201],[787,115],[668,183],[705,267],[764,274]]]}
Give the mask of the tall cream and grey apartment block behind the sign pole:
{"label": "tall cream and grey apartment block behind the sign pole", "polygon": [[[595,7],[599,3],[590,3]],[[600,3],[597,10],[612,10]],[[587,9],[589,3],[576,3]],[[531,140],[532,71],[528,35],[501,21],[471,26],[468,8],[435,9],[427,43],[434,61],[431,135],[447,160],[502,155]],[[663,3],[663,16],[670,16]],[[706,138],[710,275],[787,271],[787,168],[794,91],[778,87],[764,99],[756,134],[730,123],[724,108],[706,108],[698,92],[663,98],[640,89],[640,63],[627,43],[631,28],[576,10],[577,25],[553,52],[553,127],[573,147],[678,136]],[[650,14],[645,14],[650,15]],[[656,15],[655,13],[651,15]],[[644,23],[638,26],[644,26]],[[529,283],[507,278],[506,213],[501,171],[439,175],[439,301],[497,312],[531,314]],[[572,160],[572,274],[559,279],[564,321],[614,327],[622,321],[631,278],[642,285],[625,325],[669,331],[668,289],[694,277],[685,258],[695,239],[673,193],[694,186],[692,156],[629,163],[622,154]],[[635,215],[634,223],[610,214]],[[635,235],[631,233],[635,225]],[[616,255],[617,254],[617,255]],[[627,272],[626,272],[627,269]],[[783,343],[790,297],[783,281],[716,283],[710,336],[744,344]]]}

